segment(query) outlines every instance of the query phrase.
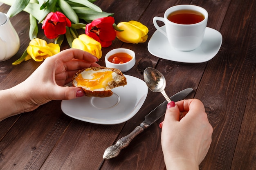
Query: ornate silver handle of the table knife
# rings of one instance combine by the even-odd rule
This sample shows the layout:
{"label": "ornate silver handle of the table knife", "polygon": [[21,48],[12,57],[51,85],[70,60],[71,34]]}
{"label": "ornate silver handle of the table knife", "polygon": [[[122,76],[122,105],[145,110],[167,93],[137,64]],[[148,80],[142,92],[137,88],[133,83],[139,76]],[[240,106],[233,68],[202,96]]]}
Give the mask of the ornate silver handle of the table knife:
{"label": "ornate silver handle of the table knife", "polygon": [[139,135],[141,132],[143,132],[144,129],[145,127],[142,128],[141,126],[137,126],[132,132],[130,132],[129,135],[122,137],[117,141],[115,145],[108,147],[103,154],[103,159],[111,159],[117,157],[120,151],[126,148],[130,144],[132,139]]}

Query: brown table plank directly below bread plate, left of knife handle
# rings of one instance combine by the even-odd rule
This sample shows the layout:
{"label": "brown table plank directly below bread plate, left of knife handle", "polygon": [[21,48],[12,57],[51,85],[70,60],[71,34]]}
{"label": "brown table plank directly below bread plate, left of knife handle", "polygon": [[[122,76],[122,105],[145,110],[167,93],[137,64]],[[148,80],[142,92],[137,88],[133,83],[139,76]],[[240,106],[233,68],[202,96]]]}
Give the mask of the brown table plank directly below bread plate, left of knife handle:
{"label": "brown table plank directly below bread plate, left of knife handle", "polygon": [[104,150],[112,145],[123,126],[97,125],[73,119],[40,170],[99,169]]}

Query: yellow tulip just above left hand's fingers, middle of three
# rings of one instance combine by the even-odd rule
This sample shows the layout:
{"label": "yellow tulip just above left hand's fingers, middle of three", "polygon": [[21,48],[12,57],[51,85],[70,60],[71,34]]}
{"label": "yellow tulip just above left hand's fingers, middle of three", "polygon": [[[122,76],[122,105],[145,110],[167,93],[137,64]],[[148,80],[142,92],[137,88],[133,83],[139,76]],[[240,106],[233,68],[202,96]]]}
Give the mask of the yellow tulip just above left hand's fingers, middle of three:
{"label": "yellow tulip just above left hand's fingers, middle of three", "polygon": [[85,34],[81,34],[73,40],[72,48],[87,51],[97,58],[102,56],[101,43]]}

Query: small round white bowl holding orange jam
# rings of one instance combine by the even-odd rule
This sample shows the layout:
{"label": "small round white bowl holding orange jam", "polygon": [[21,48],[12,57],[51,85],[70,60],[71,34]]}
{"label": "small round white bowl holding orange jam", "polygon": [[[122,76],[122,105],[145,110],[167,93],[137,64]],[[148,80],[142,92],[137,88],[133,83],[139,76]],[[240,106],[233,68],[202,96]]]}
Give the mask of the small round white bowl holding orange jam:
{"label": "small round white bowl holding orange jam", "polygon": [[[127,54],[132,56],[132,60],[130,60],[126,63],[122,63],[122,64],[115,64],[115,63],[112,63],[112,62],[108,61],[108,58],[111,55],[116,54],[116,53],[127,53]],[[108,67],[108,68],[117,68],[121,72],[126,72],[126,71],[130,70],[135,65],[135,62],[136,62],[135,52],[130,50],[130,49],[122,49],[122,48],[113,49],[113,50],[109,51],[105,56],[106,67]]]}

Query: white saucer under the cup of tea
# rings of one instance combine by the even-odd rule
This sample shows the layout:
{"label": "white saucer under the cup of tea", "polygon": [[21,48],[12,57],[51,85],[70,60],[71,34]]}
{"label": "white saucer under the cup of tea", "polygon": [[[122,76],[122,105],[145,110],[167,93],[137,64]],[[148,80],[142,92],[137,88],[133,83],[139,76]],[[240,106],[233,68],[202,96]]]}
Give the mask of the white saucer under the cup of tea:
{"label": "white saucer under the cup of tea", "polygon": [[[161,29],[165,31],[165,26]],[[148,42],[148,51],[159,58],[175,62],[201,63],[211,60],[219,51],[222,35],[215,29],[206,27],[202,44],[193,51],[183,52],[173,49],[162,33],[155,31]]]}

